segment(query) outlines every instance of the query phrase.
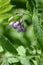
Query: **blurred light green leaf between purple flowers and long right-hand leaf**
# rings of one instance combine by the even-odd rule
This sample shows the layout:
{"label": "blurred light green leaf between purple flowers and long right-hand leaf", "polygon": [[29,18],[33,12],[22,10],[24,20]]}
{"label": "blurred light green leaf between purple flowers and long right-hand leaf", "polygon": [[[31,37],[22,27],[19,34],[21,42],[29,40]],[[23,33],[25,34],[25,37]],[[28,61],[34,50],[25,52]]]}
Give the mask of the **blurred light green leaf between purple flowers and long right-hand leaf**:
{"label": "blurred light green leaf between purple flowers and long right-hand leaf", "polygon": [[36,37],[35,37],[35,34],[34,34],[33,25],[30,25],[27,28],[26,36],[28,37],[28,40],[30,40],[32,46],[36,46],[37,40],[36,40]]}

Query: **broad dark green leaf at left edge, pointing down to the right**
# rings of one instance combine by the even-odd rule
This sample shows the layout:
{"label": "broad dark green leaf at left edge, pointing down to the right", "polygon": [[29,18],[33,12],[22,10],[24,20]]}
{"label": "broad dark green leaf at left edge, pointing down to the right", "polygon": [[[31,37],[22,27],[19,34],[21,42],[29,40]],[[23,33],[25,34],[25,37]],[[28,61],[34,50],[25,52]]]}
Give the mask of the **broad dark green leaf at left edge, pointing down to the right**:
{"label": "broad dark green leaf at left edge, pointing down to the right", "polygon": [[9,51],[12,54],[17,54],[17,51],[15,49],[15,47],[13,46],[13,44],[3,35],[0,34],[0,42],[1,45],[3,47],[3,49]]}

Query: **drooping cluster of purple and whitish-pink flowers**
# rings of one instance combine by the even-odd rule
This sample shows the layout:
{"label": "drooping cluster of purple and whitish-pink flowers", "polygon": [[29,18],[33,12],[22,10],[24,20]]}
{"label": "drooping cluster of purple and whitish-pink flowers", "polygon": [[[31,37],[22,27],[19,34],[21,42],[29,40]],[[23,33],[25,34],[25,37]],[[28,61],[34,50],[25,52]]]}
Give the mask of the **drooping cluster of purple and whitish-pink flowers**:
{"label": "drooping cluster of purple and whitish-pink flowers", "polygon": [[20,19],[19,21],[13,21],[13,22],[10,22],[10,26],[12,26],[13,28],[17,29],[18,32],[26,32],[26,28],[24,27],[24,25],[22,25],[22,22],[23,20]]}

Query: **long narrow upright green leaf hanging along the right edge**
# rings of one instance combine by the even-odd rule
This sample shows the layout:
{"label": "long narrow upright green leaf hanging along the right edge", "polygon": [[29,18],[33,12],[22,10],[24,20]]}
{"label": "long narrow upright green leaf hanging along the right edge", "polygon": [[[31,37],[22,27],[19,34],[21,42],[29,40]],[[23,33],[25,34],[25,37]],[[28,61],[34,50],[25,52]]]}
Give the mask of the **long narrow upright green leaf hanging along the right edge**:
{"label": "long narrow upright green leaf hanging along the right edge", "polygon": [[39,45],[41,46],[41,49],[43,50],[43,30],[41,28],[40,20],[37,16],[36,11],[34,11],[33,13],[32,21],[33,21],[33,27],[34,27],[36,38],[40,43]]}

